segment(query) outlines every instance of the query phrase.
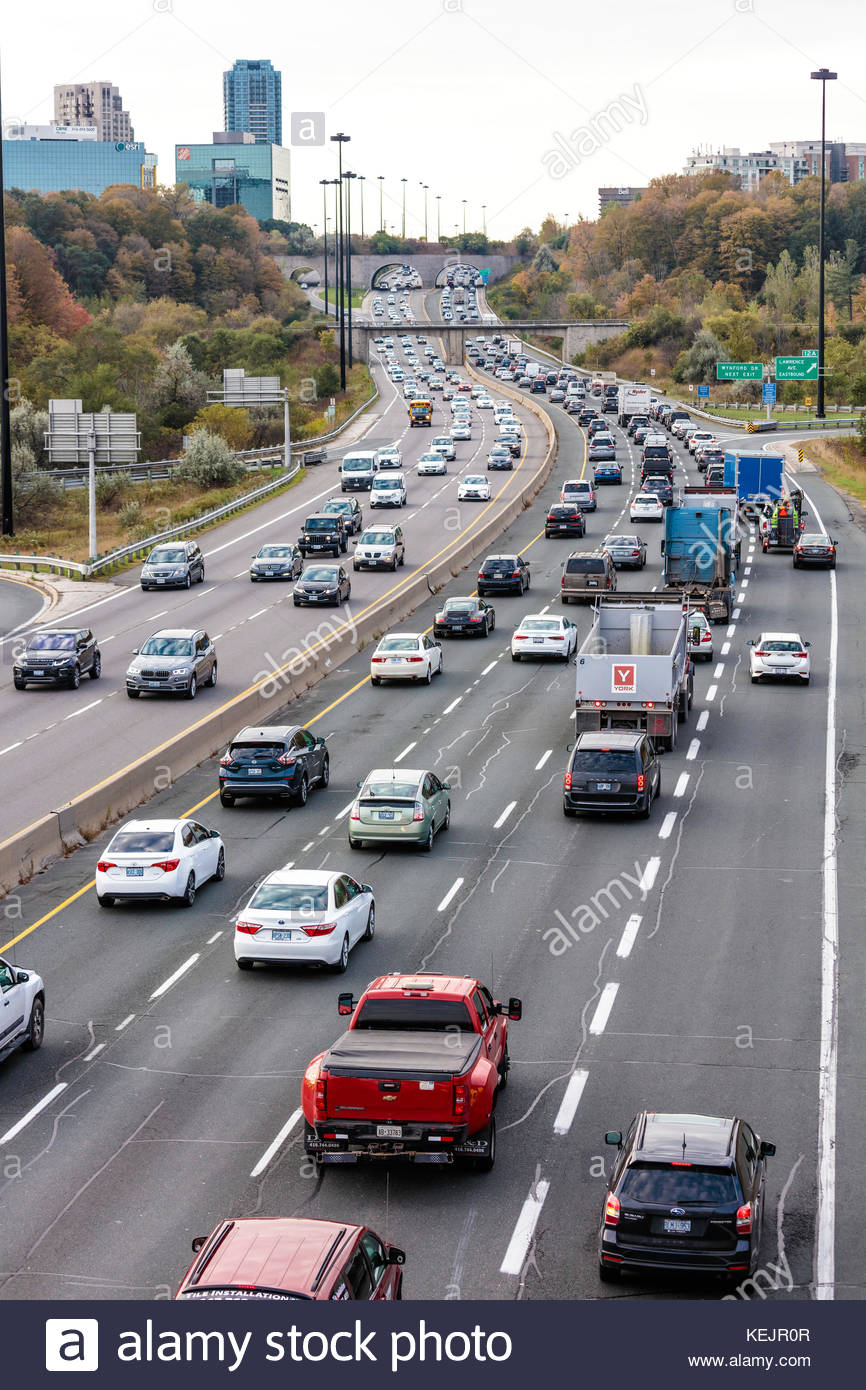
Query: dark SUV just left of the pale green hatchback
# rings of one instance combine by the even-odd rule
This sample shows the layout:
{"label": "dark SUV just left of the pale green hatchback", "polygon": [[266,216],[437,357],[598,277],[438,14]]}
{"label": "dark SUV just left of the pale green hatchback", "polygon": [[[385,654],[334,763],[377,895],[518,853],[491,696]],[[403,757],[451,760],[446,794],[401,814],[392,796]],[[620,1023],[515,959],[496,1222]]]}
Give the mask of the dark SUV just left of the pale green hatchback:
{"label": "dark SUV just left of the pale green hatchback", "polygon": [[328,745],[297,724],[242,728],[220,759],[220,802],[236,796],[282,796],[306,805],[310,787],[327,787]]}

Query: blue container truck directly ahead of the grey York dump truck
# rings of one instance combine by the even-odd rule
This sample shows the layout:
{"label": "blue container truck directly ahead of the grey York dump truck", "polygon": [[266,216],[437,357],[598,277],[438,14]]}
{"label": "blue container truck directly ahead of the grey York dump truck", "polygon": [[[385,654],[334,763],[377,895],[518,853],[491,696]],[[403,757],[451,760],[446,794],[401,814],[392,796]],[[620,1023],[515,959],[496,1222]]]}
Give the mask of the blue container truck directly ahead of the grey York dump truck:
{"label": "blue container truck directly ahead of the grey York dump truck", "polygon": [[684,488],[664,513],[662,556],[663,592],[727,623],[740,563],[737,489]]}

